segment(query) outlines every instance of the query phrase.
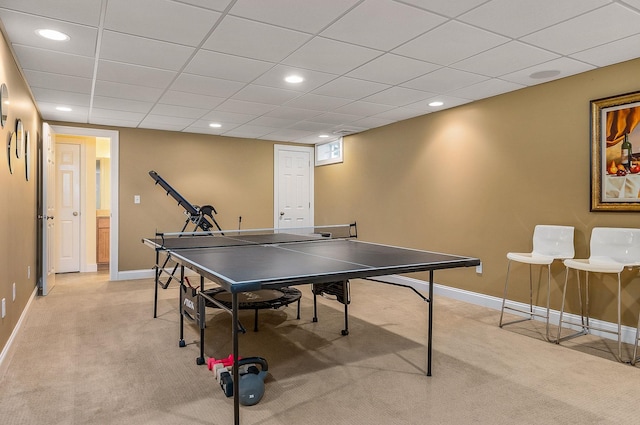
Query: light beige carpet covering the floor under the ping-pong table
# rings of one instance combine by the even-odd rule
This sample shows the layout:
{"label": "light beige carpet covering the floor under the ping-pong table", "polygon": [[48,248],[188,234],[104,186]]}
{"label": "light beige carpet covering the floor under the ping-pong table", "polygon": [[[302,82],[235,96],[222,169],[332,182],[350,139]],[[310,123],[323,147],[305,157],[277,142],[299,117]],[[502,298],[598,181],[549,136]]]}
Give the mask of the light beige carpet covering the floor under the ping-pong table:
{"label": "light beige carpet covering the floor under the ping-pong table", "polygon": [[[104,273],[58,276],[32,303],[0,381],[0,424],[230,424],[232,400],[196,365],[198,331],[178,347],[178,290]],[[427,304],[405,288],[352,282],[342,305],[308,287],[295,306],[242,312],[243,356],[262,356],[262,401],[242,424],[637,424],[640,367],[590,336],[543,341],[539,323],[500,329],[499,312],[435,299],[433,376],[425,376]],[[231,351],[230,316],[208,309],[206,355]],[[626,347],[628,350],[628,347]]]}

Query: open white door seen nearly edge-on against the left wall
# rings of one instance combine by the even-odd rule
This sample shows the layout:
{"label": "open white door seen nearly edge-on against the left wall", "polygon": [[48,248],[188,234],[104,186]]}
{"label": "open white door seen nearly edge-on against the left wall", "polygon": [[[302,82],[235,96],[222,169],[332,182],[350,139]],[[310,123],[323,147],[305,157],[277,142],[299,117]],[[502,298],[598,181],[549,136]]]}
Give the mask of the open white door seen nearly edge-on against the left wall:
{"label": "open white door seen nearly edge-on against the left wall", "polygon": [[42,215],[42,276],[40,290],[47,295],[56,284],[55,215],[56,215],[56,156],[54,133],[47,123],[42,124],[42,152],[40,153],[40,190]]}

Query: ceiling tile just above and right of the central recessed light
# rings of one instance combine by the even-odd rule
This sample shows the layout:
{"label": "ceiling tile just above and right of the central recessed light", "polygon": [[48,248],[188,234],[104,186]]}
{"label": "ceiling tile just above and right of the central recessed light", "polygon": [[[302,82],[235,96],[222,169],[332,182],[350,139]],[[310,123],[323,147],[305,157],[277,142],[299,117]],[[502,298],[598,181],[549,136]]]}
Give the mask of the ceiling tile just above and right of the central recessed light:
{"label": "ceiling tile just above and right of the central recessed light", "polygon": [[344,74],[381,54],[378,50],[316,37],[292,53],[283,63],[332,74]]}

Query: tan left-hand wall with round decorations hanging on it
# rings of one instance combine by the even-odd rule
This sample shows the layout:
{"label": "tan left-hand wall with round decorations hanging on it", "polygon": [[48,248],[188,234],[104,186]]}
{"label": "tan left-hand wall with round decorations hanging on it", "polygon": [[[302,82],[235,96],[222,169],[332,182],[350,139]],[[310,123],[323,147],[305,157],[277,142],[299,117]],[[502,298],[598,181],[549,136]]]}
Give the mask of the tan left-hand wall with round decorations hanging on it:
{"label": "tan left-hand wall with round decorations hanging on it", "polygon": [[[7,315],[0,319],[0,350],[13,332],[36,286],[36,145],[42,124],[29,90],[0,33],[0,83],[9,89],[7,123],[0,129],[0,299],[6,300]],[[13,174],[9,174],[6,143],[22,120],[31,139],[31,178],[26,180],[27,159],[11,152]],[[30,275],[28,273],[30,269]],[[13,283],[16,299],[13,301]]]}

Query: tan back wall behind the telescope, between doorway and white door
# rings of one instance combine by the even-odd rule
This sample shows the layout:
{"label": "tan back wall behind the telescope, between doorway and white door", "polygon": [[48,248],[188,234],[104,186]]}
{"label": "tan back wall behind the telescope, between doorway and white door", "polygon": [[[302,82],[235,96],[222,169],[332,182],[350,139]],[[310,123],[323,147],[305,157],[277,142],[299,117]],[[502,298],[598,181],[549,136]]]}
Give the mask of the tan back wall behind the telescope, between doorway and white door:
{"label": "tan back wall behind the telescope, between doorway and white door", "polygon": [[[156,171],[187,201],[212,205],[223,229],[273,226],[273,143],[166,131],[120,129],[119,269],[149,269],[141,240],[177,232],[184,209],[154,184]],[[134,204],[135,195],[141,203]],[[188,227],[193,230],[193,226]]]}

